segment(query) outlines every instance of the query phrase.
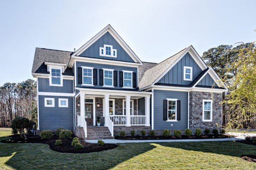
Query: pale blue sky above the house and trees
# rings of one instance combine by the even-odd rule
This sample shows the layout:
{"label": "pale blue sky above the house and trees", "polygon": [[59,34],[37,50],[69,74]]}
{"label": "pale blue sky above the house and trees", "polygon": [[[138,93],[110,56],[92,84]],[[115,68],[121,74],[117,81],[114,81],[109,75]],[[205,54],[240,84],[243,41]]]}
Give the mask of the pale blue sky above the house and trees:
{"label": "pale blue sky above the house and trees", "polygon": [[1,0],[0,86],[32,78],[36,47],[73,51],[108,24],[142,61],[256,40],[255,0]]}

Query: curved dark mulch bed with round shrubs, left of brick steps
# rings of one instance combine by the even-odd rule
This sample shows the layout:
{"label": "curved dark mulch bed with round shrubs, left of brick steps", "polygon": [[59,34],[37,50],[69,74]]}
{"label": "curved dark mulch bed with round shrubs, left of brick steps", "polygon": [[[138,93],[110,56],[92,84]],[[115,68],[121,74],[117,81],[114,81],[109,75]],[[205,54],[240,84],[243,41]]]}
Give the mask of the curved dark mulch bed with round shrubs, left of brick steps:
{"label": "curved dark mulch bed with round shrubs, left of brick steps", "polygon": [[[96,143],[88,143],[83,139],[80,139],[81,144],[84,146],[82,149],[75,150],[74,146],[71,145],[72,139],[64,139],[62,140],[62,145],[55,145],[55,141],[58,136],[53,135],[48,140],[41,140],[40,136],[27,136],[27,140],[22,140],[20,135],[11,135],[10,139],[2,140],[2,143],[44,143],[50,146],[51,150],[63,153],[90,153],[90,152],[100,152],[103,150],[110,150],[117,148],[118,145],[105,143],[104,145],[97,145]],[[72,138],[75,136],[72,136]]]}

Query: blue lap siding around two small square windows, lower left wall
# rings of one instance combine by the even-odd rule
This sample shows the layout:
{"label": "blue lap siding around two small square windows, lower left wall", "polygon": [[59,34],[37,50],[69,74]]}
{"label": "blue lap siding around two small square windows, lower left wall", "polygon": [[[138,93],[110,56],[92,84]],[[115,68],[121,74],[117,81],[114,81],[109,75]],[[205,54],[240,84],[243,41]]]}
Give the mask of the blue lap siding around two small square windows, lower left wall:
{"label": "blue lap siding around two small square windows, lower left wall", "polygon": [[[44,107],[44,98],[55,98],[55,107]],[[59,107],[59,98],[68,98],[69,107]],[[38,96],[39,130],[55,130],[65,128],[72,130],[74,123],[73,97]]]}

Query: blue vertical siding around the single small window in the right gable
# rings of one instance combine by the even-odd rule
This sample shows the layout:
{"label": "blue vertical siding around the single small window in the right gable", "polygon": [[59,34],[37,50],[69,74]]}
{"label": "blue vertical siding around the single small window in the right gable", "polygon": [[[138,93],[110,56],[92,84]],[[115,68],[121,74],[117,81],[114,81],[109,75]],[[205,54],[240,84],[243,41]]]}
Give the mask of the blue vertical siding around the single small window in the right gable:
{"label": "blue vertical siding around the single small window in the right gable", "polygon": [[189,85],[192,81],[184,81],[183,67],[193,67],[192,81],[202,72],[201,68],[197,65],[194,59],[187,53],[158,83],[176,84],[176,85]]}

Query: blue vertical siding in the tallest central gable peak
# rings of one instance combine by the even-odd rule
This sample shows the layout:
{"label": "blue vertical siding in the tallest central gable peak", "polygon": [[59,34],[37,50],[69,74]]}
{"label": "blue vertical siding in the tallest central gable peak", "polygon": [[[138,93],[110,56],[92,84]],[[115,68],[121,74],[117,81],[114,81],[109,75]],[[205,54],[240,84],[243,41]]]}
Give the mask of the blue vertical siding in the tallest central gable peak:
{"label": "blue vertical siding in the tallest central gable peak", "polygon": [[[100,47],[104,47],[104,44],[112,45],[113,49],[117,49],[117,58],[100,56]],[[88,49],[83,51],[82,54],[80,54],[80,56],[135,63],[133,59],[126,53],[126,51],[121,47],[121,45],[119,45],[117,40],[115,40],[109,32],[107,32],[96,42],[94,42],[94,44],[92,44]]]}

